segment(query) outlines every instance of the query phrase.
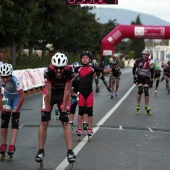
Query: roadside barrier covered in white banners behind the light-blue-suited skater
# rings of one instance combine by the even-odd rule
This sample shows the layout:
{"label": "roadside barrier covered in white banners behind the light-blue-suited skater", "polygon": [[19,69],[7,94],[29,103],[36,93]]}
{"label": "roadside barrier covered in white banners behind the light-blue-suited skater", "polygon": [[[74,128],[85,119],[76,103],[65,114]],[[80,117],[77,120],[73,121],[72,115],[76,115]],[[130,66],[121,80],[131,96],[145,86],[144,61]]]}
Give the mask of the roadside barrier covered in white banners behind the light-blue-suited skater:
{"label": "roadside barrier covered in white banners behind the light-blue-suited skater", "polygon": [[45,68],[15,70],[13,75],[20,79],[25,94],[31,95],[42,91],[45,85],[44,70]]}

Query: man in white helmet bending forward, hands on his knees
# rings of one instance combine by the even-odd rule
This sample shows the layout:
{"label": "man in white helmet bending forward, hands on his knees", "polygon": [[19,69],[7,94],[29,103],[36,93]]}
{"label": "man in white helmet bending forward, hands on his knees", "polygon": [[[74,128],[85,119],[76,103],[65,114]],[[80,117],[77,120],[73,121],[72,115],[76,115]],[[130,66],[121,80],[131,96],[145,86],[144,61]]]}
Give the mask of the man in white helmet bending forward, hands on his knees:
{"label": "man in white helmet bending forward, hands on his knees", "polygon": [[69,125],[68,112],[70,110],[70,90],[72,86],[73,72],[72,68],[67,65],[68,59],[65,54],[56,53],[51,58],[51,65],[44,72],[45,80],[45,111],[41,114],[41,123],[38,131],[39,150],[35,161],[43,165],[45,157],[44,147],[47,137],[47,127],[51,119],[51,110],[54,104],[58,105],[64,137],[67,146],[68,162],[75,162],[76,156],[72,150],[72,130]]}

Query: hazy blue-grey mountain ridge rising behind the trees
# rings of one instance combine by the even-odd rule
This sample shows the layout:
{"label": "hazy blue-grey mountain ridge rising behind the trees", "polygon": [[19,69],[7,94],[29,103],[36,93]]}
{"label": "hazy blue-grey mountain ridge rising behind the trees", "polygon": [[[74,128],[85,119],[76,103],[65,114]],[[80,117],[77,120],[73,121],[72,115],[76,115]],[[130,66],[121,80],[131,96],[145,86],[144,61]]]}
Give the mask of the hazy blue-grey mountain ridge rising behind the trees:
{"label": "hazy blue-grey mountain ridge rising behind the trees", "polygon": [[93,14],[98,18],[98,22],[104,24],[109,20],[115,20],[118,24],[129,25],[132,21],[136,21],[137,16],[140,16],[140,20],[143,25],[158,25],[169,26],[170,22],[167,22],[159,17],[151,14],[145,14],[142,12],[135,12],[128,9],[117,8],[93,8],[91,10]]}

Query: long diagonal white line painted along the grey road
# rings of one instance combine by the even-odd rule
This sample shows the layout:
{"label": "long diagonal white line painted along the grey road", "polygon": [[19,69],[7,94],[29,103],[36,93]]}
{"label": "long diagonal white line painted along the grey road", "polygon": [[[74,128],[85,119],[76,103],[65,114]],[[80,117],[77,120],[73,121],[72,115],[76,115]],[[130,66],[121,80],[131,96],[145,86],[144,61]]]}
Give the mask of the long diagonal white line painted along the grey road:
{"label": "long diagonal white line painted along the grey road", "polygon": [[[136,85],[133,85],[127,93],[118,101],[118,103],[97,123],[97,126],[93,128],[93,135],[100,129],[99,126],[103,125],[106,120],[114,113],[114,111],[120,106],[120,104],[127,98],[130,92],[134,89]],[[74,153],[77,155],[79,151],[88,143],[88,136],[86,135],[81,142],[74,148]],[[67,157],[56,167],[55,170],[64,170],[69,165]]]}

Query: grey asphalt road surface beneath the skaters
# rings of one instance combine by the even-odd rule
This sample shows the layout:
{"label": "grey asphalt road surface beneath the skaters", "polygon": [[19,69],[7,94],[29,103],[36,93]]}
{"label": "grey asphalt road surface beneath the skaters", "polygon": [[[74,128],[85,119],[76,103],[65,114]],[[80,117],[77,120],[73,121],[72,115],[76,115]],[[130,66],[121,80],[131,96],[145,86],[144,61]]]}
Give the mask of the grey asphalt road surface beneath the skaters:
{"label": "grey asphalt road surface beneath the skaters", "polygon": [[[108,80],[108,77],[106,78]],[[119,96],[110,93],[100,81],[100,94],[95,94],[94,135],[90,142],[83,136],[77,142],[77,117],[73,129],[73,145],[77,154],[75,170],[168,170],[170,167],[170,95],[165,82],[157,96],[150,89],[153,115],[147,116],[144,100],[141,115],[136,115],[137,87],[131,69],[123,70]],[[26,97],[12,162],[0,162],[0,170],[36,170],[41,94]],[[8,139],[9,140],[9,139]],[[69,169],[63,131],[53,114],[45,146],[44,170]]]}

